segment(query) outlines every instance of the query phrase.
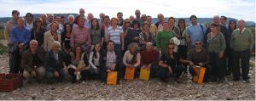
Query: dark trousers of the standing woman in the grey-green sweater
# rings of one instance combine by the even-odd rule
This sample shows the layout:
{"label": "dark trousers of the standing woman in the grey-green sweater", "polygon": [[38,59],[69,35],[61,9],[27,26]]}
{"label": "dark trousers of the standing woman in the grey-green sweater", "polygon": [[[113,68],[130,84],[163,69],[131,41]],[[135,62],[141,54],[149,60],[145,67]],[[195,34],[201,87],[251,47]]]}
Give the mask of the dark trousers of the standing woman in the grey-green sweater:
{"label": "dark trousers of the standing woman in the grey-green sweater", "polygon": [[210,53],[210,65],[212,66],[212,77],[223,78],[225,75],[224,58],[219,59],[218,53]]}

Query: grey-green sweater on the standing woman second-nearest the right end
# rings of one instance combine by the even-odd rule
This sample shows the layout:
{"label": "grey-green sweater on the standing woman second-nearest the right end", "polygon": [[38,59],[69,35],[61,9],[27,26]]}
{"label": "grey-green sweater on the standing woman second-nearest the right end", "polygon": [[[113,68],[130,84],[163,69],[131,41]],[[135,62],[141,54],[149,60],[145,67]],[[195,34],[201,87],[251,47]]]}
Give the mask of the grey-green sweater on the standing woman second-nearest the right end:
{"label": "grey-green sweater on the standing woman second-nearest the right end", "polygon": [[209,53],[224,52],[226,48],[224,35],[221,32],[218,32],[216,36],[212,37],[209,33],[207,35],[207,45]]}

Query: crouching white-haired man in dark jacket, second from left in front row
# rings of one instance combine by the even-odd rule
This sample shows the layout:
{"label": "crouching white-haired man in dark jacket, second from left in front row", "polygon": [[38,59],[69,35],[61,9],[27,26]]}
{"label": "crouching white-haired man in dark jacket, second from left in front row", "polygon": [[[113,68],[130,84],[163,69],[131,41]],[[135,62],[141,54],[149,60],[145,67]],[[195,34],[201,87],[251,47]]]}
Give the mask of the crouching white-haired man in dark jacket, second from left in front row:
{"label": "crouching white-haired man in dark jacket, second from left in front row", "polygon": [[67,73],[65,72],[63,56],[64,54],[60,50],[61,43],[58,41],[53,42],[52,49],[46,53],[45,56],[45,68],[46,78],[48,83],[53,81],[61,82],[67,79]]}

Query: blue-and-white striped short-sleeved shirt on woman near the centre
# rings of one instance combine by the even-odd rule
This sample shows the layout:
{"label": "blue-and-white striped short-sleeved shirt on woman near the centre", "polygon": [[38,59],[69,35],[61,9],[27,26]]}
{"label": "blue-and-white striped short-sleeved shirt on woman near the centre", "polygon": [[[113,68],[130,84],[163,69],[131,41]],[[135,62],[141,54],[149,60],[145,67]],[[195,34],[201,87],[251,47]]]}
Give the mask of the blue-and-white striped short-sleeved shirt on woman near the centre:
{"label": "blue-and-white striped short-sleeved shirt on woman near the centre", "polygon": [[108,27],[109,40],[112,40],[115,44],[121,44],[121,33],[123,33],[123,29],[120,26],[117,26],[115,30],[112,26]]}

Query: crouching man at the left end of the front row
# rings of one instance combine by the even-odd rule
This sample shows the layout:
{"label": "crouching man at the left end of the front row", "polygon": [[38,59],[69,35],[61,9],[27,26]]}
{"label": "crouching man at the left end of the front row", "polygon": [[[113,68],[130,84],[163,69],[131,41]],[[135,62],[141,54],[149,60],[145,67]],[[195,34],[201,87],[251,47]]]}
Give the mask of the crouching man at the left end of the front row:
{"label": "crouching man at the left end of the front row", "polygon": [[38,49],[38,41],[32,40],[29,42],[29,49],[22,53],[20,65],[24,69],[23,76],[31,82],[36,79],[39,82],[44,78],[44,49]]}

